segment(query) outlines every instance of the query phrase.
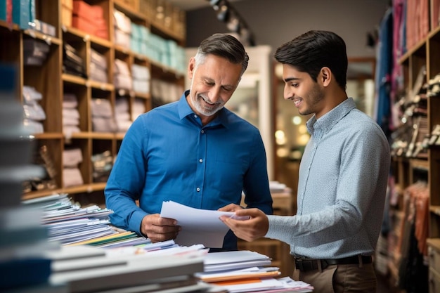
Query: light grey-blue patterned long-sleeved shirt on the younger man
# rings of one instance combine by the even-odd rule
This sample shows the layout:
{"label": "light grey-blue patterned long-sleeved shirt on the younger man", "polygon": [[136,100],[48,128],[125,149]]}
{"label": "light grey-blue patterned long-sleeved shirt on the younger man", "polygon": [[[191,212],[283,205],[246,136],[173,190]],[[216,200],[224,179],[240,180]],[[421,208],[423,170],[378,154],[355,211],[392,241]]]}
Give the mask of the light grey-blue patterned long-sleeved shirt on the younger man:
{"label": "light grey-blue patterned long-sleeved shirt on the younger man", "polygon": [[307,122],[311,134],[299,167],[297,214],[268,216],[266,237],[290,254],[339,259],[373,254],[383,218],[389,144],[352,98]]}

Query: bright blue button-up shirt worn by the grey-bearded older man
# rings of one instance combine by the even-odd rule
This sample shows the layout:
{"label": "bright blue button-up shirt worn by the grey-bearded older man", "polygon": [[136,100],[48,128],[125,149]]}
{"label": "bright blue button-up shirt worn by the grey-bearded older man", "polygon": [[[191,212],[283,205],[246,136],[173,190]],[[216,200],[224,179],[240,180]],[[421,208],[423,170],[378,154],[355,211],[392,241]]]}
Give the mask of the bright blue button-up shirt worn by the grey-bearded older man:
{"label": "bright blue button-up shirt worn by the grey-bearded older man", "polygon": [[[259,130],[226,108],[202,126],[186,101],[188,91],[141,115],[124,136],[105,187],[111,222],[140,232],[147,214],[172,200],[198,209],[240,204],[272,213],[266,152]],[[139,200],[139,207],[135,200]],[[224,249],[236,249],[236,237]]]}

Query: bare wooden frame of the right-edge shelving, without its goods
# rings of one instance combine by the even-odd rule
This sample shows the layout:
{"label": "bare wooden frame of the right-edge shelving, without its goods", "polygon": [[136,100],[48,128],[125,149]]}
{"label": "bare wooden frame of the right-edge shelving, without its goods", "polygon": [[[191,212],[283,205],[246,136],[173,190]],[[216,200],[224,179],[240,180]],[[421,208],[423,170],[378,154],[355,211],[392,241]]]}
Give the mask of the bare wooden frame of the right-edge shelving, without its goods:
{"label": "bare wooden frame of the right-edge shelving, without its goods", "polygon": [[[422,84],[427,84],[429,80],[434,79],[437,74],[440,74],[440,24],[438,13],[439,1],[437,0],[423,0],[427,2],[430,13],[430,30],[426,37],[415,42],[415,44],[408,48],[408,51],[399,59],[399,63],[403,67],[403,78],[407,93],[415,93],[418,86],[418,78],[420,72],[425,69],[426,74],[423,76]],[[434,15],[436,18],[434,19]],[[408,95],[408,98],[413,99],[414,96]],[[440,98],[438,96],[427,97],[427,129],[429,134],[436,125],[440,124]],[[429,192],[429,227],[428,227],[428,255],[429,261],[429,292],[440,292],[440,148],[438,145],[429,145],[427,152],[422,156],[405,157],[396,156],[392,159],[392,171],[396,180],[396,185],[403,192],[409,185],[413,185],[418,181],[425,181]],[[403,195],[401,195],[403,197]],[[395,214],[395,234],[396,237],[400,235],[401,214],[399,209],[403,208],[401,203],[403,200],[399,198],[399,204],[396,205],[397,211]],[[399,218],[400,217],[400,218]],[[397,277],[399,259],[401,255],[399,252],[394,252],[396,257],[389,262],[390,271]]]}

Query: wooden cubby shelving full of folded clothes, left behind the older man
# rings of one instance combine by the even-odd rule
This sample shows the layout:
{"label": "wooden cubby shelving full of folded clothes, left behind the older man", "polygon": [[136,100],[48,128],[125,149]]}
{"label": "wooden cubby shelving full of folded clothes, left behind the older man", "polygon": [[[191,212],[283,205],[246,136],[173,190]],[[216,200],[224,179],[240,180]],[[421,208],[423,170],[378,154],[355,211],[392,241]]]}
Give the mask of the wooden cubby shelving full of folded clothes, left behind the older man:
{"label": "wooden cubby shelving full of folded clothes, left behind the older man", "polygon": [[[1,41],[11,44],[0,60],[17,64],[22,121],[34,135],[32,162],[44,170],[22,185],[25,200],[69,193],[103,204],[105,178],[124,132],[153,107],[150,80],[183,85],[184,65],[177,70],[177,64],[170,67],[169,57],[153,59],[147,50],[134,51],[131,41],[116,41],[115,27],[122,27],[130,38],[156,35],[163,44],[161,54],[170,53],[167,41],[183,52],[184,27],[178,32],[174,25],[157,22],[145,13],[153,5],[148,0],[14,0],[0,9],[6,20],[0,22]],[[15,11],[9,11],[13,6]],[[18,21],[13,22],[13,15]],[[173,21],[183,20],[180,13]],[[123,112],[119,98],[127,103]],[[63,156],[70,150],[81,153],[77,166],[65,166]]]}

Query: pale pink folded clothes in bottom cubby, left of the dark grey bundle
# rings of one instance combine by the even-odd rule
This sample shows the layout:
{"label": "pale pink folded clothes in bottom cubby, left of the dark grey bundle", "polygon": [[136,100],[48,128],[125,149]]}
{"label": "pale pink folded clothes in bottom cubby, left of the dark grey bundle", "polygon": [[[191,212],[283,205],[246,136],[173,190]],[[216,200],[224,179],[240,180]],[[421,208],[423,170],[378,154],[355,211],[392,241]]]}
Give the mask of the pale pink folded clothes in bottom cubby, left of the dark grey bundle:
{"label": "pale pink folded clothes in bottom cubby, left of the dark grey bundle", "polygon": [[63,150],[63,186],[84,184],[79,164],[82,162],[82,152],[79,148]]}

